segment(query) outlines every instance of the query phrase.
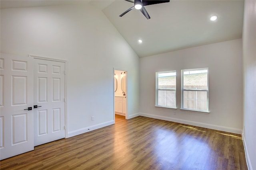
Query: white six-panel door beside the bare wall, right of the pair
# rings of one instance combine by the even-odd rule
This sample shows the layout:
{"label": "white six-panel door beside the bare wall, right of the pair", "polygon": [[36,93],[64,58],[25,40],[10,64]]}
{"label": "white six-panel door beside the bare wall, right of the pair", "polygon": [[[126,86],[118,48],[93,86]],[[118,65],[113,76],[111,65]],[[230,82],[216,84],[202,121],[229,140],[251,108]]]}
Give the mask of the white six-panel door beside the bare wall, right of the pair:
{"label": "white six-panel door beside the bare wall, right of the pair", "polygon": [[34,59],[34,146],[65,138],[65,63]]}

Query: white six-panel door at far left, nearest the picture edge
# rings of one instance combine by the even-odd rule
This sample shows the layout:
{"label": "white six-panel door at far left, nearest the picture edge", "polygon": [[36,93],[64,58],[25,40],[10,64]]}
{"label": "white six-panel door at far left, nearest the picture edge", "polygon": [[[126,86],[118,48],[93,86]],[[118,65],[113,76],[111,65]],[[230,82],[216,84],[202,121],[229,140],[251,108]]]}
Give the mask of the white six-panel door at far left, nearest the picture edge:
{"label": "white six-panel door at far left, nearest the picture edge", "polygon": [[1,53],[0,159],[34,150],[33,63]]}

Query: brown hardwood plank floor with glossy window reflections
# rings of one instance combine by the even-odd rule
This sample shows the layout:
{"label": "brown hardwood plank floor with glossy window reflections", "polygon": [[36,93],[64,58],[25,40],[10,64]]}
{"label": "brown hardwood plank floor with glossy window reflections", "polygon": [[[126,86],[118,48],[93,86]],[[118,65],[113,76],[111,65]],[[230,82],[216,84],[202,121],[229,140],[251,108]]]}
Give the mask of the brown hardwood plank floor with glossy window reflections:
{"label": "brown hardwood plank floor with glossy window reflections", "polygon": [[152,119],[126,120],[0,161],[17,170],[247,170],[241,135]]}

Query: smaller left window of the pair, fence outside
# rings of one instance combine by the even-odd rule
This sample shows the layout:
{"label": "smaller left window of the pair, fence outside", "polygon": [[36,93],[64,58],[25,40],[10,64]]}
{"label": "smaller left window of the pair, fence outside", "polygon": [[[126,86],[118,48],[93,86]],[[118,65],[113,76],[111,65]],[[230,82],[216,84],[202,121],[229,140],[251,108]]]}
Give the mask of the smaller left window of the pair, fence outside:
{"label": "smaller left window of the pair, fence outside", "polygon": [[156,106],[176,108],[176,71],[156,72]]}

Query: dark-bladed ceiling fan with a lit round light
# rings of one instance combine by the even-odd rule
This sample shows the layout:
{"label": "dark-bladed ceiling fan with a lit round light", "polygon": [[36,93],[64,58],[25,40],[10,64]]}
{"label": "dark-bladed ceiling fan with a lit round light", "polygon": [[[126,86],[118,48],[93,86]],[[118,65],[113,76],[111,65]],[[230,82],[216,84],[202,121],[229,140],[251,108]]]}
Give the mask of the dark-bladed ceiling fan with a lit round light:
{"label": "dark-bladed ceiling fan with a lit round light", "polygon": [[131,8],[126,10],[124,13],[122,13],[120,15],[120,17],[122,17],[124,14],[126,14],[127,12],[129,12],[130,10],[135,8],[136,10],[140,10],[140,12],[142,12],[142,14],[147,19],[150,19],[150,16],[148,15],[148,12],[147,12],[147,10],[145,9],[144,6],[153,5],[153,4],[161,4],[161,3],[165,3],[165,2],[170,2],[170,0],[134,0],[134,2],[132,0],[126,0],[126,1],[134,3],[134,6],[132,6]]}

